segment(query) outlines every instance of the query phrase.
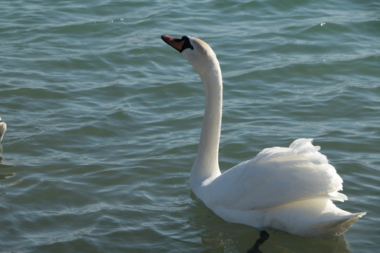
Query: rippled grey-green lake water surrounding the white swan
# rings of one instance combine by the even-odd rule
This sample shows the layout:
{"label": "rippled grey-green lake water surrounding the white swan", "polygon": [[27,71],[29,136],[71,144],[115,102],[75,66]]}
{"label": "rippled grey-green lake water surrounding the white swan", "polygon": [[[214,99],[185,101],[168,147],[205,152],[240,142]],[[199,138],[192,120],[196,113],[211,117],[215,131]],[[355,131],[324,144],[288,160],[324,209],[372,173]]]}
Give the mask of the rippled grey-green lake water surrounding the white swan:
{"label": "rippled grey-green lake water surrounding the white swan", "polygon": [[246,252],[259,233],[197,200],[198,74],[220,60],[220,167],[314,138],[367,215],[339,238],[268,229],[262,252],[380,247],[380,2],[0,2],[0,252]]}

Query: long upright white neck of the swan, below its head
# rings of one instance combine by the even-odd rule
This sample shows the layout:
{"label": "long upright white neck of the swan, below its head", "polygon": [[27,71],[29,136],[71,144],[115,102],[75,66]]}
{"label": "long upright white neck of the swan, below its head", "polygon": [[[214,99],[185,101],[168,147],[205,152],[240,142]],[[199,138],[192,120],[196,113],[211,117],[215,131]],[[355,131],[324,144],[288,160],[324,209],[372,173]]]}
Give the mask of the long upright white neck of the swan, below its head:
{"label": "long upright white neck of the swan, below its head", "polygon": [[222,74],[217,59],[198,70],[205,89],[205,114],[198,153],[191,169],[190,183],[193,190],[207,180],[220,175],[218,152],[222,124]]}

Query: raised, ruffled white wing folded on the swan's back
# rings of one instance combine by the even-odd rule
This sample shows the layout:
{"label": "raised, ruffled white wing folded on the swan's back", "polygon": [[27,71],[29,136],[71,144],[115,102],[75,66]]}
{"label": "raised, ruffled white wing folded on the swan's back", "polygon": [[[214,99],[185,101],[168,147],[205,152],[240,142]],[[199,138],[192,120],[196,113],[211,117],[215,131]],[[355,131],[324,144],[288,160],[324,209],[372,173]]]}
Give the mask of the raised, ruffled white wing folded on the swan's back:
{"label": "raised, ruffled white wing folded on the swan's back", "polygon": [[338,193],[343,180],[311,141],[298,139],[289,148],[267,148],[224,172],[210,184],[210,194],[217,194],[218,203],[213,205],[248,210],[314,198],[347,200]]}

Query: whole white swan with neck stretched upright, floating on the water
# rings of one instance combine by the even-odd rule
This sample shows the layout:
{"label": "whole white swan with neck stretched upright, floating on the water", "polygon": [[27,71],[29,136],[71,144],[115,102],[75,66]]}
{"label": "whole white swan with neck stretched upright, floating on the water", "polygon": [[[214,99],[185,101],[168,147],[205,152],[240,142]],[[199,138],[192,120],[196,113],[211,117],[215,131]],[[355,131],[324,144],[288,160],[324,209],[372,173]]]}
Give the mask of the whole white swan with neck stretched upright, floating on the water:
{"label": "whole white swan with neck stretched upright, floating on the water", "polygon": [[343,202],[343,180],[311,138],[289,148],[265,148],[252,160],[220,172],[218,150],[222,123],[222,73],[213,49],[201,39],[161,37],[198,72],[205,90],[205,112],[190,187],[217,216],[254,228],[274,228],[304,237],[343,234],[366,212],[352,214]]}

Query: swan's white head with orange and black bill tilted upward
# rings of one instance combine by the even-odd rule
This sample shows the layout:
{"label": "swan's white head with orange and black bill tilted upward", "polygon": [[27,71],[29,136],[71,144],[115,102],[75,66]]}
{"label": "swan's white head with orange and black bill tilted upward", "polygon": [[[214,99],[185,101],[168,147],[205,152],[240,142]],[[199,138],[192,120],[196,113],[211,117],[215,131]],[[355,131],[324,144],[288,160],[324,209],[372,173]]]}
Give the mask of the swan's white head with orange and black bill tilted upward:
{"label": "swan's white head with orange and black bill tilted upward", "polygon": [[215,67],[215,65],[219,67],[213,49],[201,39],[189,36],[175,39],[168,35],[161,36],[161,39],[163,39],[168,45],[177,49],[179,53],[182,53],[199,74],[208,70],[209,67]]}

